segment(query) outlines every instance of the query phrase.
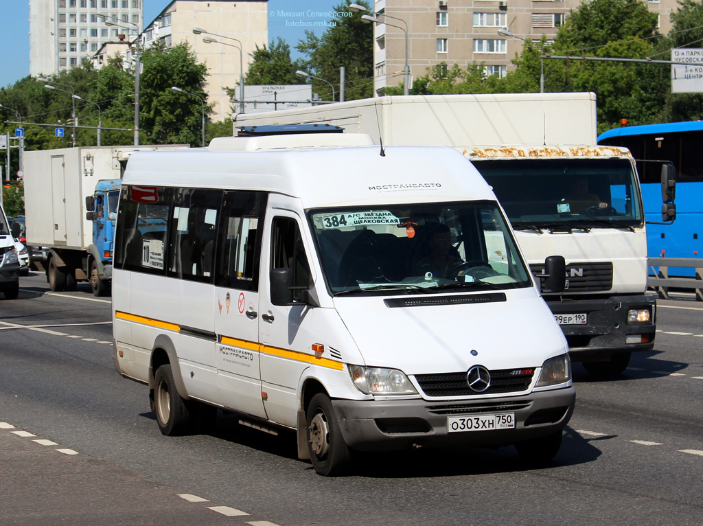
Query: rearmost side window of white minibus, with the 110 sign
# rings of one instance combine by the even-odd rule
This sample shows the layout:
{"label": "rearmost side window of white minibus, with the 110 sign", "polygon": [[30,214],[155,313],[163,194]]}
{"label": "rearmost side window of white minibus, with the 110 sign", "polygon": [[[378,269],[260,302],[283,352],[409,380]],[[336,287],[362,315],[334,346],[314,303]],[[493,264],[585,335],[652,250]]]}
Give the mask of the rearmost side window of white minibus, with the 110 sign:
{"label": "rearmost side window of white minibus, with the 110 sign", "polygon": [[122,188],[115,240],[115,268],[164,274],[166,228],[172,195],[171,188]]}

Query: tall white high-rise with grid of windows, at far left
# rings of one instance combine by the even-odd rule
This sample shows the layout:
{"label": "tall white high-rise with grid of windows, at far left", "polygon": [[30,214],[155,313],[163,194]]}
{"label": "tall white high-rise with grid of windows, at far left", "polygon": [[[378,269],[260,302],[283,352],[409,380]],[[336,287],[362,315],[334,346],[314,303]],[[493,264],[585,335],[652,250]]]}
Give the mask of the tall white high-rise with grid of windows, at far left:
{"label": "tall white high-rise with grid of windows, at far left", "polygon": [[126,30],[141,31],[143,0],[30,0],[30,75],[54,75],[91,58]]}

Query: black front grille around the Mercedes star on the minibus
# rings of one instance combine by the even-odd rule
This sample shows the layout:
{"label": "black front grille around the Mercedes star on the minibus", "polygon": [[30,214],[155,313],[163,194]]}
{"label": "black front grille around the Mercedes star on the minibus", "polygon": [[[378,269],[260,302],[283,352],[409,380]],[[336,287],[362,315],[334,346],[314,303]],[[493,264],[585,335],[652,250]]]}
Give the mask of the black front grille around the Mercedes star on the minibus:
{"label": "black front grille around the Mercedes star on the minibus", "polygon": [[420,389],[428,397],[461,397],[469,394],[502,394],[505,392],[520,392],[527,390],[532,383],[534,367],[528,369],[502,369],[489,371],[491,385],[484,392],[475,392],[469,387],[466,372],[417,374]]}

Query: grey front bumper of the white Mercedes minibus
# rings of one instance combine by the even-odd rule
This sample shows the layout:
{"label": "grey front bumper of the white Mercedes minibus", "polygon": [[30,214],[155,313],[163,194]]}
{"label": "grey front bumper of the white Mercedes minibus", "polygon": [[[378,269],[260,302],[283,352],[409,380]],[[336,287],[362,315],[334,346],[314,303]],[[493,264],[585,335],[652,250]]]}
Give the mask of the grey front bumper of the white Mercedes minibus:
{"label": "grey front bumper of the white Mercedes minibus", "polygon": [[[521,397],[449,400],[333,400],[344,442],[359,451],[411,447],[496,447],[562,430],[574,412],[574,387]],[[449,416],[514,413],[515,428],[448,432]]]}

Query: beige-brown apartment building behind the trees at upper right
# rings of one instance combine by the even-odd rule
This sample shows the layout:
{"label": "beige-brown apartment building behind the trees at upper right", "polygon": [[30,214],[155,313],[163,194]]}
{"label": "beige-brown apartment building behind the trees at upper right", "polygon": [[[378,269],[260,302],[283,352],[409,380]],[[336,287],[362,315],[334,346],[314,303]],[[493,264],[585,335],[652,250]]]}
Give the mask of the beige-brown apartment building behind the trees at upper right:
{"label": "beige-brown apartment building behind the trees at upper right", "polygon": [[[659,15],[659,31],[671,30],[671,11],[678,0],[646,1]],[[408,32],[408,65],[413,78],[427,75],[427,68],[446,62],[451,68],[485,63],[486,75],[504,77],[514,68],[510,60],[522,51],[524,40],[555,39],[566,15],[581,0],[376,0],[374,11],[385,23],[375,25],[374,88],[403,79]],[[391,18],[394,17],[394,18]],[[498,34],[508,28],[515,37]]]}

